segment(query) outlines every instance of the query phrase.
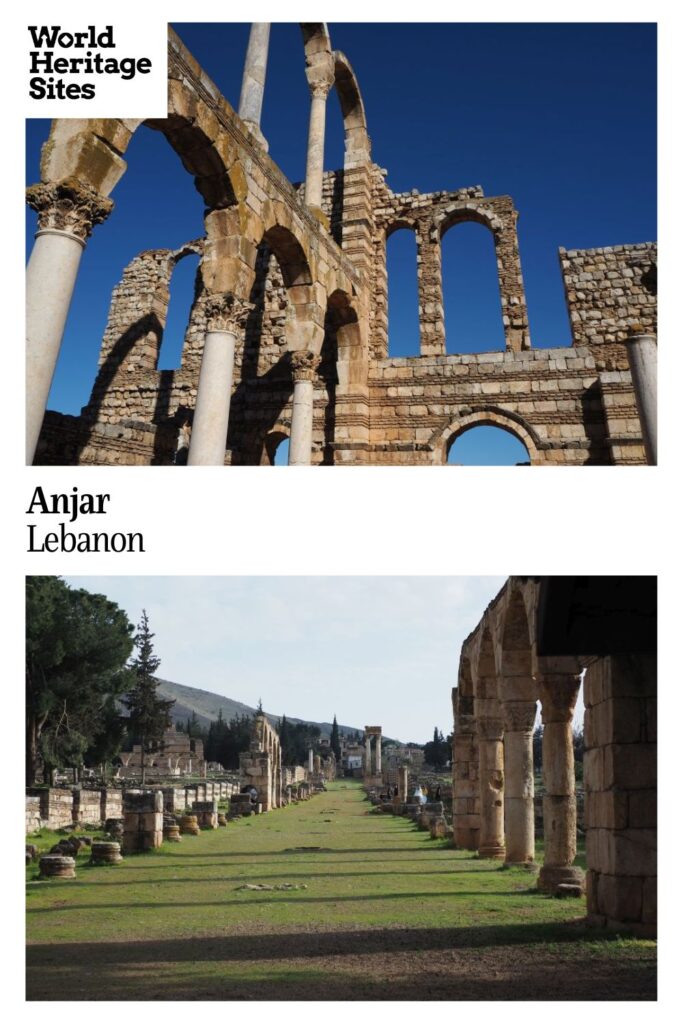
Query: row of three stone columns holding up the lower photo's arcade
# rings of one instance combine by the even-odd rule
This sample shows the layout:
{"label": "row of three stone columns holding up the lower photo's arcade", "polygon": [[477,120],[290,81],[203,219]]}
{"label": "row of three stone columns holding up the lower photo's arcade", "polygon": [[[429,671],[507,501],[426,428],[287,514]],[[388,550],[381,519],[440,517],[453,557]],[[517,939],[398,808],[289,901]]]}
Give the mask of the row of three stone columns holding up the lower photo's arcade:
{"label": "row of three stone columns holding up the lower photo's arcade", "polygon": [[[577,799],[571,721],[580,682],[580,676],[566,675],[546,677],[540,683],[545,857],[539,886],[546,891],[553,891],[560,883],[581,882],[583,877],[572,867],[577,855]],[[531,863],[536,701],[498,703],[488,698],[480,705],[476,716],[479,855],[505,859],[510,864]],[[468,784],[467,780],[464,784]],[[456,778],[454,800],[459,799]]]}

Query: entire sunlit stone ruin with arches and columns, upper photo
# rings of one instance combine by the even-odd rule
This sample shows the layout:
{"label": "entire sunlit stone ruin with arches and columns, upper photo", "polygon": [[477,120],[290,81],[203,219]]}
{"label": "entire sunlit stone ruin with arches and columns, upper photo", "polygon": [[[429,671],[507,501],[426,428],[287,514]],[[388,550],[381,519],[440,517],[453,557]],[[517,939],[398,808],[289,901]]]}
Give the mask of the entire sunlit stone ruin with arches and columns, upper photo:
{"label": "entire sunlit stone ruin with arches and columns, upper photo", "polygon": [[[287,180],[260,129],[268,31],[252,27],[239,111],[169,30],[166,119],[53,122],[28,190],[39,215],[27,271],[29,462],[269,465],[289,438],[293,465],[443,465],[481,424],[514,434],[532,466],[655,462],[655,245],[560,249],[572,344],[535,348],[513,200],[479,185],[394,194],[325,25],[302,26],[306,179]],[[333,89],[345,157],[326,172]],[[142,126],[194,177],[205,236],[122,268],[88,403],[78,417],[45,415],[81,257],[116,217],[110,196]],[[446,354],[440,247],[464,221],[493,234],[504,351]],[[386,242],[401,227],[418,243],[420,354],[396,358]],[[181,362],[160,371],[171,276],[190,253],[201,263]]]}

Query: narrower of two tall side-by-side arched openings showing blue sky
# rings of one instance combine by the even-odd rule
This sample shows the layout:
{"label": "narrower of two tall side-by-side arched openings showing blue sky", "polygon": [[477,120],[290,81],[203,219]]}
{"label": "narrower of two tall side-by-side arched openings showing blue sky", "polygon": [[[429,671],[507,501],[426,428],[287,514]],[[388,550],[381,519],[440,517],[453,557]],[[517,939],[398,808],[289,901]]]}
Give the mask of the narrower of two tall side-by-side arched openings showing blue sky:
{"label": "narrower of two tall side-by-side arched openings showing blue sky", "polygon": [[398,227],[386,243],[388,354],[420,354],[418,247],[415,231]]}

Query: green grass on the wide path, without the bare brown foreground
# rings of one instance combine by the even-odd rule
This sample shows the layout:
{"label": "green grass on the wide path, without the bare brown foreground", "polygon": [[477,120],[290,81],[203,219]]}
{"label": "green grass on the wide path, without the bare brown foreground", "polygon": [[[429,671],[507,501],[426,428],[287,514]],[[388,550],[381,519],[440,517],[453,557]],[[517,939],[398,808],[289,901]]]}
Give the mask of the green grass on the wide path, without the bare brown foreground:
{"label": "green grass on the wide path, without the bare brown foreground", "polygon": [[[443,930],[445,947],[464,950],[535,945],[550,953],[561,950],[565,959],[638,959],[651,952],[652,944],[635,939],[618,945],[611,938],[596,939],[581,923],[584,901],[539,893],[531,872],[501,870],[496,861],[456,851],[403,818],[369,814],[369,808],[357,784],[337,782],[306,803],[198,837],[184,836],[180,844],[164,844],[155,853],[126,857],[119,865],[88,867],[87,854],[82,854],[75,881],[33,881],[37,869],[32,865],[28,940],[37,944],[37,953],[44,953],[48,964],[63,947],[74,984],[77,965],[81,958],[87,962],[88,944],[147,944],[151,959],[175,957],[171,973],[176,986],[187,968],[185,947],[195,948],[195,959],[187,955],[196,977],[205,977],[207,984],[213,984],[211,979],[227,982],[236,972],[251,980],[263,971],[270,972],[271,980],[273,972],[289,976],[294,971],[299,981],[306,972],[316,976],[312,965],[283,966],[282,956],[274,954],[265,966],[257,957],[249,964],[241,959],[238,968],[227,963],[227,955],[215,963],[201,952],[202,943],[210,949],[216,941],[229,944],[244,937],[234,947],[238,955],[254,937],[273,934],[319,935],[324,948],[345,933],[381,931],[391,940],[389,946],[400,935],[412,936],[419,946],[428,934],[430,942],[434,934],[440,941]],[[59,838],[53,836],[45,835],[46,848]],[[295,849],[303,846],[321,849]],[[307,888],[240,890],[245,883],[285,882]],[[193,947],[191,940],[201,942]],[[196,961],[203,961],[201,967]],[[40,964],[37,973],[42,977],[46,969]],[[158,983],[160,971],[164,977],[169,973],[159,964],[146,969],[128,964],[120,967],[117,977],[126,979],[127,991],[139,994]]]}

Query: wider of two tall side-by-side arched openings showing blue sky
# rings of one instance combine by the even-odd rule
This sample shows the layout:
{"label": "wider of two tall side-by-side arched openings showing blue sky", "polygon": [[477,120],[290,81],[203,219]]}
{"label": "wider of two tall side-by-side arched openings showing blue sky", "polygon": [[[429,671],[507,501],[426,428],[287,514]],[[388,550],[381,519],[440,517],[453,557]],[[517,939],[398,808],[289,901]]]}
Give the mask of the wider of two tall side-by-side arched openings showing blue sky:
{"label": "wider of two tall side-by-side arched openings showing blue sky", "polygon": [[445,350],[449,354],[505,349],[494,237],[475,221],[441,239]]}

